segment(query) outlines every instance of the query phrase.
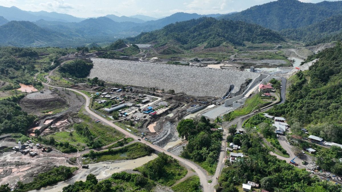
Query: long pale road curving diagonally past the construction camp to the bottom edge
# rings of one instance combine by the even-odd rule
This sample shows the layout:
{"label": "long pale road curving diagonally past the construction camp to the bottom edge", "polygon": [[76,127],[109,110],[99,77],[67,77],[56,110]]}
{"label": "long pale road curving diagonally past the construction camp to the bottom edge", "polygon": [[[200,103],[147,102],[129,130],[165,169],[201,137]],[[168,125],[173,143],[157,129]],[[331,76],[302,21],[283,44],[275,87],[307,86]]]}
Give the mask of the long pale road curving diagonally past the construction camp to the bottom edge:
{"label": "long pale road curving diagonally past the construction camp to the bottom edge", "polygon": [[[43,83],[43,82],[42,82],[42,84],[47,85],[47,86],[50,86],[50,87],[54,87],[54,88],[63,88],[63,87],[52,86],[52,85],[49,85],[49,84]],[[86,109],[86,111],[87,111],[89,114],[91,114],[91,116],[93,116],[93,117],[96,118],[96,119],[101,120],[102,123],[104,123],[104,124],[107,124],[107,125],[109,125],[109,126],[111,126],[111,127],[114,127],[115,129],[117,129],[119,132],[123,133],[123,134],[126,135],[126,136],[132,137],[132,138],[135,139],[135,140],[141,139],[140,137],[135,136],[135,135],[132,135],[130,132],[128,132],[128,131],[122,129],[121,127],[115,125],[114,123],[112,123],[112,122],[110,122],[110,121],[104,119],[102,116],[98,115],[97,113],[95,113],[95,112],[93,112],[91,109],[89,109],[90,98],[89,98],[86,94],[84,94],[84,93],[82,93],[82,92],[80,92],[80,91],[78,91],[78,90],[74,90],[74,89],[72,89],[72,88],[66,88],[66,89],[69,90],[69,91],[74,91],[74,92],[76,92],[76,93],[82,95],[84,98],[86,98],[86,105],[84,106],[84,108]],[[139,140],[138,140],[138,141],[139,141]],[[160,147],[158,147],[158,146],[155,146],[155,145],[153,145],[152,143],[149,143],[149,142],[147,142],[147,141],[145,141],[145,140],[141,140],[141,141],[139,141],[139,142],[144,143],[145,145],[147,145],[147,146],[153,148],[153,149],[156,150],[156,151],[164,152],[165,154],[172,156],[174,159],[176,159],[176,160],[178,160],[178,161],[180,161],[180,162],[183,162],[184,164],[186,164],[186,165],[189,166],[190,168],[194,169],[195,172],[197,173],[197,175],[198,175],[199,178],[200,178],[200,181],[201,181],[201,184],[202,184],[202,187],[203,187],[203,192],[210,192],[210,191],[213,191],[213,188],[212,188],[212,189],[209,189],[208,177],[207,177],[206,173],[203,172],[202,169],[200,169],[199,165],[197,165],[197,164],[195,164],[195,163],[193,163],[193,162],[191,162],[191,161],[188,161],[188,160],[186,160],[186,159],[183,159],[183,158],[181,158],[181,157],[179,157],[179,156],[177,156],[177,155],[175,155],[175,154],[172,154],[172,153],[170,153],[170,152],[168,152],[168,151],[166,151],[166,150],[164,150],[164,149],[162,149],[162,148],[160,148]],[[210,187],[210,188],[211,188],[211,187]]]}

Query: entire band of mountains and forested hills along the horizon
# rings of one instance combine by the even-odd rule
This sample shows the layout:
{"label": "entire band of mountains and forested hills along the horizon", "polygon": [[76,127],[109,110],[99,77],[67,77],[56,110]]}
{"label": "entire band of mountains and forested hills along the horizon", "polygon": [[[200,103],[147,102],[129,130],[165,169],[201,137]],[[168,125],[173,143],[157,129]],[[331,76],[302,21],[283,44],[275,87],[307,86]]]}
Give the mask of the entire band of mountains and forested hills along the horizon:
{"label": "entire band of mountains and forested hills along the horizon", "polygon": [[[202,17],[213,18],[203,18],[204,20],[198,24],[192,20]],[[214,22],[215,19],[224,21]],[[26,20],[31,23],[11,22],[13,20]],[[229,20],[238,20],[242,23]],[[0,44],[60,47],[81,46],[93,42],[109,44],[118,38],[134,37],[142,32],[134,39],[135,42],[146,43],[149,42],[147,40],[150,40],[168,43],[172,41],[180,43],[183,46],[182,49],[195,46],[190,42],[206,47],[225,42],[236,45],[243,44],[242,40],[248,41],[246,34],[255,38],[254,41],[249,39],[251,42],[261,42],[260,37],[265,38],[265,41],[280,40],[282,35],[292,40],[313,44],[341,39],[341,20],[342,1],[303,3],[298,0],[278,0],[253,6],[238,13],[200,15],[181,12],[159,19],[144,15],[129,17],[106,15],[97,18],[78,18],[56,12],[31,12],[20,10],[14,6],[10,8],[0,6],[0,33],[2,33],[0,34],[2,38]],[[184,21],[189,21],[189,23],[184,23]],[[179,27],[181,25],[183,28]],[[197,25],[205,27],[202,26],[201,28]],[[244,35],[235,36],[236,34],[230,27],[239,31],[235,28],[236,26],[245,30],[261,31],[240,31]],[[196,31],[192,31],[192,28],[205,31],[206,34],[196,33]],[[279,33],[265,28],[277,30]],[[189,31],[184,31],[184,29]],[[223,33],[217,30],[221,30]],[[150,31],[153,32],[147,33]],[[168,31],[172,31],[172,33],[170,34]],[[227,37],[227,34],[236,37],[236,40]],[[181,41],[177,38],[181,38]]]}

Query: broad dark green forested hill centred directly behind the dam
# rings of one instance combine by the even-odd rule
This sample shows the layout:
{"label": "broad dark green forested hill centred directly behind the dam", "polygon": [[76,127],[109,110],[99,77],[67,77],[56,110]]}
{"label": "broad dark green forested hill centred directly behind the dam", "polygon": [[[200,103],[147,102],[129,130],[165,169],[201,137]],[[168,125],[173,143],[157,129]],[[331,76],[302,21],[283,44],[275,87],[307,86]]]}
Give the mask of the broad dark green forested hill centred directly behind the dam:
{"label": "broad dark green forested hill centred directly behind the dam", "polygon": [[259,25],[224,19],[217,20],[212,17],[177,22],[160,30],[141,33],[128,40],[134,43],[158,41],[159,45],[174,40],[182,44],[184,49],[192,49],[202,44],[205,44],[205,48],[216,47],[224,42],[244,45],[244,41],[252,43],[284,41],[279,33]]}

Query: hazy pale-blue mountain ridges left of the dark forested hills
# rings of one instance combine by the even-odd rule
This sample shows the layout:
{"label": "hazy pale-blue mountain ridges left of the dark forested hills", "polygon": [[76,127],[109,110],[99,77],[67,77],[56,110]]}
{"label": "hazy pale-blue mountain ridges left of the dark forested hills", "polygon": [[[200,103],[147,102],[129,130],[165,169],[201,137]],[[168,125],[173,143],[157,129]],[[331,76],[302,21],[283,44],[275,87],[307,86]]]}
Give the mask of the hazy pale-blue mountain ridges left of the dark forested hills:
{"label": "hazy pale-blue mountain ridges left of the dark forested hills", "polygon": [[[117,17],[113,19],[131,20],[116,22],[106,17],[84,19],[81,22],[47,21],[44,19],[36,22],[8,22],[0,17],[1,45],[13,46],[79,46],[87,43],[113,42],[118,38],[126,38],[139,35],[143,31],[160,29],[165,25],[199,18],[203,15],[189,13],[175,13],[169,17],[144,22],[138,18]],[[218,15],[213,15],[218,16]],[[134,23],[132,20],[140,20],[142,23]],[[7,23],[8,22],[8,23]],[[5,24],[6,23],[6,24]]]}

